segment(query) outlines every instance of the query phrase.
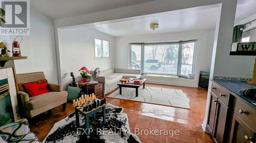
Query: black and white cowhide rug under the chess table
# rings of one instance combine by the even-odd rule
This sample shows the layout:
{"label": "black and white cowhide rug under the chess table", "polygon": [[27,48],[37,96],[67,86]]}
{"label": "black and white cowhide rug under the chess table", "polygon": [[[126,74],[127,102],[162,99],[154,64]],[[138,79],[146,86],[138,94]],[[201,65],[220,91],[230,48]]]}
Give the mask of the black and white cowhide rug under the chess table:
{"label": "black and white cowhide rug under the chess table", "polygon": [[84,116],[79,113],[80,126],[76,127],[75,113],[54,124],[53,128],[42,142],[97,142],[97,143],[140,143],[139,138],[130,132],[129,123],[123,108],[110,103],[106,105],[106,125],[102,125],[101,112],[96,119],[90,118],[89,140],[84,131]]}

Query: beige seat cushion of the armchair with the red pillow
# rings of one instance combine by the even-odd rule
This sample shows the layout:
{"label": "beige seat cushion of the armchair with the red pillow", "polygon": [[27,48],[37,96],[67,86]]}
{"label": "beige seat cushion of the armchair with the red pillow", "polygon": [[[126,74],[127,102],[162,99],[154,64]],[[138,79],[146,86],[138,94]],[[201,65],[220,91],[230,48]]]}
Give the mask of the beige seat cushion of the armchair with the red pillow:
{"label": "beige seat cushion of the armchair with the red pillow", "polygon": [[44,93],[38,96],[30,97],[29,98],[30,101],[26,102],[26,107],[29,110],[32,110],[32,109],[47,105],[49,103],[52,103],[61,98],[67,98],[67,96],[68,96],[67,91]]}

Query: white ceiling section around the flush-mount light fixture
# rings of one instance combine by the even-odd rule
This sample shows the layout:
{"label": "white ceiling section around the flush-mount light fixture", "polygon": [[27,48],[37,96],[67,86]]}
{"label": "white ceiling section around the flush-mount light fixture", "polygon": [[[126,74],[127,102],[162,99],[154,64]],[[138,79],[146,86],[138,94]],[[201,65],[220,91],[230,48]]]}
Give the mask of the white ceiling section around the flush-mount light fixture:
{"label": "white ceiling section around the flush-mount light fixture", "polygon": [[[114,37],[209,30],[216,26],[217,13],[217,8],[179,10],[87,27]],[[159,28],[155,31],[150,28],[152,22],[159,23]]]}

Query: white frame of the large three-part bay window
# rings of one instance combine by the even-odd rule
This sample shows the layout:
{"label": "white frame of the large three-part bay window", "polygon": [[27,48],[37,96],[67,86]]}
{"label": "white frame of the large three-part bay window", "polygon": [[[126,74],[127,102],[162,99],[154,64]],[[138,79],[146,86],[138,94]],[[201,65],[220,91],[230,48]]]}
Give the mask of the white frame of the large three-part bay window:
{"label": "white frame of the large three-part bay window", "polygon": [[[141,63],[140,63],[140,70],[142,74],[156,74],[156,75],[177,75],[180,77],[185,77],[185,75],[181,75],[181,57],[182,57],[182,44],[184,43],[192,43],[194,42],[194,54],[193,54],[193,65],[192,65],[192,72],[191,76],[195,78],[195,70],[196,70],[196,59],[197,59],[197,44],[198,40],[187,40],[187,41],[181,41],[181,42],[154,42],[154,43],[129,43],[129,69],[132,69],[132,45],[140,45],[141,46]],[[177,74],[168,74],[168,73],[149,73],[149,72],[144,72],[144,50],[145,50],[145,45],[166,45],[166,44],[178,44],[178,65],[177,65]]]}

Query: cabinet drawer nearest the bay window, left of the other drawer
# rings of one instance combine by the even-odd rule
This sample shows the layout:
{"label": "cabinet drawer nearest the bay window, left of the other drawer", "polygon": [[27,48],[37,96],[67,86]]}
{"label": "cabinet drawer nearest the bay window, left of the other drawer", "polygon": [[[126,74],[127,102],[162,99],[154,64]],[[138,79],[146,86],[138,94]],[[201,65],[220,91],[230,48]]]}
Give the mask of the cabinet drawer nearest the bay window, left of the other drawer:
{"label": "cabinet drawer nearest the bay window, left of the other drawer", "polygon": [[222,87],[220,87],[220,85],[216,84],[215,82],[212,82],[211,92],[218,96],[218,98],[228,106],[230,94]]}

